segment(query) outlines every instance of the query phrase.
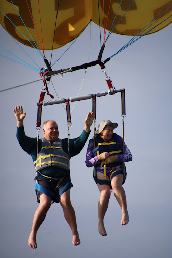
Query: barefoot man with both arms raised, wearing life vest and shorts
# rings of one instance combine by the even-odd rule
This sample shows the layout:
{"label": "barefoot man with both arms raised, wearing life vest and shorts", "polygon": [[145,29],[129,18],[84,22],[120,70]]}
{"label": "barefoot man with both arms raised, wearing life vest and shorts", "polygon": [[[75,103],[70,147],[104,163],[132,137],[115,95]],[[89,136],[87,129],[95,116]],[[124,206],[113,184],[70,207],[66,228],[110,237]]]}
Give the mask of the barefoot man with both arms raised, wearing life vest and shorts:
{"label": "barefoot man with both arms raised, wearing life vest and shorts", "polygon": [[82,134],[78,138],[69,140],[69,153],[68,138],[59,139],[56,122],[53,120],[44,122],[44,138],[38,141],[38,155],[37,138],[30,138],[24,132],[23,120],[26,112],[23,112],[22,106],[18,106],[15,107],[14,113],[17,119],[17,139],[23,150],[32,156],[37,171],[35,188],[37,201],[40,204],[33,218],[28,244],[31,248],[37,248],[37,231],[44,221],[51,203],[60,202],[64,217],[72,230],[72,243],[73,245],[78,245],[80,244],[80,239],[77,231],[75,211],[70,201],[70,188],[73,185],[70,180],[69,160],[84,147],[93,123],[93,113],[89,112],[87,114]]}

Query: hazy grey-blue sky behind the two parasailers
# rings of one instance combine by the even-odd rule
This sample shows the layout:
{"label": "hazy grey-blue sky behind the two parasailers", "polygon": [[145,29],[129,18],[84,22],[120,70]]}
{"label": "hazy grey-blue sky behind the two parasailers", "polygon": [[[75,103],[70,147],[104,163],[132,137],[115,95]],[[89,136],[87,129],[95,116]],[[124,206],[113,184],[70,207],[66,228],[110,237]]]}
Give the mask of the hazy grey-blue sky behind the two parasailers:
{"label": "hazy grey-blue sky behind the two parasailers", "polygon": [[[0,45],[28,61],[8,33],[0,27]],[[129,36],[111,34],[103,59],[116,53],[130,40]],[[130,221],[121,226],[121,209],[111,193],[104,224],[107,236],[97,230],[99,191],[93,180],[93,169],[85,165],[88,142],[81,153],[71,159],[71,202],[75,209],[81,244],[72,245],[71,230],[64,219],[60,204],[53,204],[37,234],[38,248],[28,247],[33,215],[38,207],[35,195],[35,171],[31,157],[16,138],[16,118],[13,109],[22,105],[26,111],[25,133],[37,137],[37,102],[44,85],[41,81],[0,93],[1,102],[1,243],[3,258],[37,257],[99,257],[169,258],[171,250],[171,42],[172,25],[142,37],[106,63],[106,73],[116,89],[125,88],[125,143],[133,160],[126,163],[127,179],[124,189]],[[88,61],[90,26],[69,51],[56,63],[55,70],[77,66]],[[89,61],[99,53],[99,27],[91,25]],[[33,49],[27,49],[40,67],[42,59]],[[67,49],[53,51],[54,61]],[[1,50],[0,54],[4,54]],[[50,51],[45,53],[50,59]],[[39,72],[0,57],[1,87],[22,85],[40,79]],[[107,91],[105,74],[99,66],[55,76],[52,82],[60,98]],[[58,99],[52,84],[49,92]],[[51,100],[46,95],[45,100]],[[71,107],[70,138],[80,135],[84,120],[92,110],[92,101],[76,102]],[[60,138],[66,138],[66,111],[61,104],[43,106],[42,122],[58,122]],[[110,119],[118,123],[116,133],[122,136],[121,94],[97,98],[98,124]],[[89,139],[92,138],[91,127]],[[42,128],[40,137],[42,137]]]}

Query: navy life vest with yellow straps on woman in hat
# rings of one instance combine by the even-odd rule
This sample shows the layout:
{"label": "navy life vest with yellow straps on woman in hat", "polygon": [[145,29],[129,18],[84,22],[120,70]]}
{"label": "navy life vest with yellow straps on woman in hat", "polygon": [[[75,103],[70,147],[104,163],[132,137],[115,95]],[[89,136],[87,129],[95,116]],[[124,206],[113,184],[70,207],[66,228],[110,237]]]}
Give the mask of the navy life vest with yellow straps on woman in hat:
{"label": "navy life vest with yellow straps on woman in hat", "polygon": [[[113,133],[113,136],[110,141],[104,142],[104,140],[101,138],[101,136],[95,137],[95,146],[96,148],[93,149],[94,157],[100,155],[103,152],[109,152],[110,155],[118,155],[122,154],[122,150],[119,149],[119,146],[116,144],[117,141],[117,134]],[[105,160],[99,161],[99,163],[96,165],[96,169],[98,167],[104,167],[104,178],[106,178],[106,167],[113,168],[115,166],[122,165],[121,162],[113,162],[113,163],[107,163]]]}

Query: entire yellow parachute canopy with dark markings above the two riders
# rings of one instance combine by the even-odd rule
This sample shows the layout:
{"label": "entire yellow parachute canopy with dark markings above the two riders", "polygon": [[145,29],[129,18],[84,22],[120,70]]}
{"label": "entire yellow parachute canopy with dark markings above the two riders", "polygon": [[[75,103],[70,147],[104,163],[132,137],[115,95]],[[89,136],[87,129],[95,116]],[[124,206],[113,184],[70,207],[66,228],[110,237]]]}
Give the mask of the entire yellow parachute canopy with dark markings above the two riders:
{"label": "entire yellow parachute canopy with dark markings above the two riders", "polygon": [[[135,36],[153,19],[156,22],[147,30],[172,15],[171,6],[166,8],[170,3],[171,1],[167,0],[122,0],[122,2],[121,0],[111,0],[110,5],[110,0],[105,0],[103,11],[103,0],[99,0],[99,5],[97,0],[1,0],[0,22],[19,42],[33,47],[29,41],[33,45],[35,45],[35,41],[38,48],[41,49],[43,38],[43,49],[49,50],[52,49],[52,45],[53,49],[59,48],[75,39],[90,20],[101,27],[104,27],[105,21],[106,27],[107,17],[107,30],[111,29],[112,31],[118,24],[113,30],[114,33]],[[115,20],[114,17],[116,17]],[[163,29],[171,22],[172,17],[155,27],[148,34]],[[140,35],[144,33],[145,31]]]}

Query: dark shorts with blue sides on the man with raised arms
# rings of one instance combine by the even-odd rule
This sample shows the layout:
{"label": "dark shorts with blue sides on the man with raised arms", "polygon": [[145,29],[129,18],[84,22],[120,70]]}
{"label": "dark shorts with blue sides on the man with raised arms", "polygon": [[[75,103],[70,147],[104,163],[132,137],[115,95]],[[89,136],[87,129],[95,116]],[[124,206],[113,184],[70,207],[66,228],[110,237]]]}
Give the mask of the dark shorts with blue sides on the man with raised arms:
{"label": "dark shorts with blue sides on the man with raised arms", "polygon": [[64,176],[59,180],[47,180],[37,175],[35,180],[37,181],[35,191],[38,203],[40,202],[39,198],[42,193],[49,196],[53,202],[59,203],[61,195],[73,187],[70,176]]}

